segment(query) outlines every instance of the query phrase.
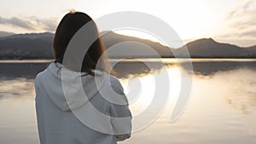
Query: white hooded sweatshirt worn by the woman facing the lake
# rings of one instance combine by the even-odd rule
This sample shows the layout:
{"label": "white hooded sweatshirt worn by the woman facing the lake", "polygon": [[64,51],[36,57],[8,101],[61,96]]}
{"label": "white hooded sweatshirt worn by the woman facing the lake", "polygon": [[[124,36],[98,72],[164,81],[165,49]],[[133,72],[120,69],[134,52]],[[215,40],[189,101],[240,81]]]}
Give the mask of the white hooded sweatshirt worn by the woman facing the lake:
{"label": "white hooded sweatshirt worn by the woman facing the lake", "polygon": [[41,144],[114,144],[131,136],[131,112],[119,80],[95,72],[96,77],[85,72],[81,77],[81,72],[52,62],[38,73],[35,89]]}

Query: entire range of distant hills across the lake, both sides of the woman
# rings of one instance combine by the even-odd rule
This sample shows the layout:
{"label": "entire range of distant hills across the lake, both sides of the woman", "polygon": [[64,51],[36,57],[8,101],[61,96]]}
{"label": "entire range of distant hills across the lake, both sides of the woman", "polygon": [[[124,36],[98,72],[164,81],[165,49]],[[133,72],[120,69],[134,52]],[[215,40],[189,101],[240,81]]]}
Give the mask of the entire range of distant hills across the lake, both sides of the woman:
{"label": "entire range of distant hills across the lake, both sides of the woman", "polygon": [[[147,39],[129,37],[114,32],[103,32],[102,39],[110,58],[151,58],[155,54],[165,58],[186,57],[185,47],[170,49]],[[49,32],[15,34],[0,37],[0,59],[53,59],[54,34]],[[218,43],[202,38],[186,44],[192,58],[256,58],[256,46],[241,48],[229,43]],[[110,49],[109,49],[110,48]]]}

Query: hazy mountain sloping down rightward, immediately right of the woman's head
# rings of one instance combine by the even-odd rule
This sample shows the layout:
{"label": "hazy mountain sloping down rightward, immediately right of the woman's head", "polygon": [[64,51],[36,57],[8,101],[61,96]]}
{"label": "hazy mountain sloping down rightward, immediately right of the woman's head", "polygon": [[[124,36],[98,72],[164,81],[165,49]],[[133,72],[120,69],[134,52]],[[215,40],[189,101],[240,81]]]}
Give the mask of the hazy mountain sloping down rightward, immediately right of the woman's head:
{"label": "hazy mountain sloping down rightward, immediately right of the woman's head", "polygon": [[168,47],[147,39],[129,37],[114,32],[102,32],[102,40],[112,58],[172,57]]}

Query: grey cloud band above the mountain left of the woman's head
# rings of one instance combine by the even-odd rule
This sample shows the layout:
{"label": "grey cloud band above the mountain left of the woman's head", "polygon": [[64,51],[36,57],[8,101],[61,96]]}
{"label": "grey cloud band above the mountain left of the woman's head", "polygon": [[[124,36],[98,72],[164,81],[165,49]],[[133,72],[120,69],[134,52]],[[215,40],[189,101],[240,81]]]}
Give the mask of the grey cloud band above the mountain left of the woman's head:
{"label": "grey cloud band above the mountain left of the woman's head", "polygon": [[55,31],[57,19],[39,19],[36,16],[32,17],[11,17],[4,18],[0,16],[0,25],[12,26],[30,31]]}

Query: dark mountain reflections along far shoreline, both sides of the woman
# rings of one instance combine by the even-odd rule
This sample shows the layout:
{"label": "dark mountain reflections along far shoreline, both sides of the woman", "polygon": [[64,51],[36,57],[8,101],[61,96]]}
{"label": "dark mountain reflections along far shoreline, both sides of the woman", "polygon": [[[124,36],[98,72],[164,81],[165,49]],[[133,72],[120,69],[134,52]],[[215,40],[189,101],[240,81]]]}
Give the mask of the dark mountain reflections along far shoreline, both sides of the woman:
{"label": "dark mountain reflections along far shoreline, both sides of the woman", "polygon": [[[160,60],[121,60],[115,64],[113,69],[117,72],[118,78],[143,77],[152,72],[160,71],[161,68],[178,67],[187,72],[191,72],[188,60],[177,63],[175,59],[166,59],[164,63]],[[248,68],[256,71],[256,60],[192,60],[193,73],[198,76],[212,76],[217,72],[229,72],[236,69]],[[0,61],[0,78],[35,78],[38,72],[43,71],[49,62],[1,62]]]}

